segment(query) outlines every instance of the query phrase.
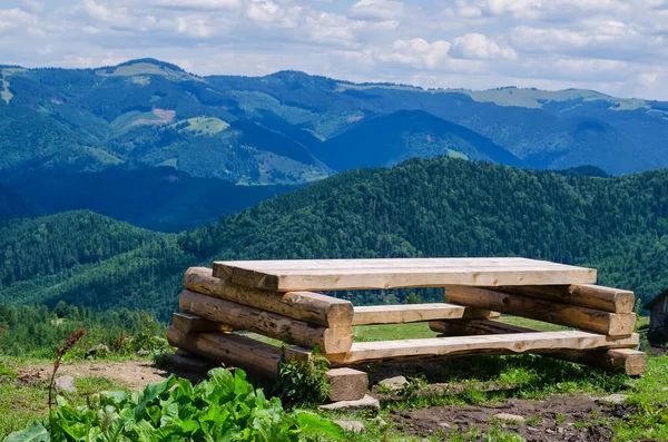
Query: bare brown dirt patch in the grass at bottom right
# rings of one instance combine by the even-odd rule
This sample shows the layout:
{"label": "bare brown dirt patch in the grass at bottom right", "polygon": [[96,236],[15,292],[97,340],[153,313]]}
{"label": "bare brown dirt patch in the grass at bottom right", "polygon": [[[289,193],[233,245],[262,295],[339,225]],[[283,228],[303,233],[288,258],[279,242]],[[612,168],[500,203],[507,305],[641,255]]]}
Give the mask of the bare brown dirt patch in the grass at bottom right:
{"label": "bare brown dirt patch in the grass at bottom right", "polygon": [[509,400],[498,405],[432,406],[396,412],[393,419],[400,431],[414,435],[466,431],[488,431],[499,413],[527,419],[523,425],[503,423],[502,428],[527,441],[611,441],[610,423],[631,413],[629,405],[599,405],[591,396],[553,396],[544,401]]}

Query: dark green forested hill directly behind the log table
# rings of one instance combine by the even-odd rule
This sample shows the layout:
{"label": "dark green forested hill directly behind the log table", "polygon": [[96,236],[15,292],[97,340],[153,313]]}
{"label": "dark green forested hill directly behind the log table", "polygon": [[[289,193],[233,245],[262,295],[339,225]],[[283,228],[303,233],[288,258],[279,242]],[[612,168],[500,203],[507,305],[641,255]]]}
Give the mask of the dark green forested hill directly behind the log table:
{"label": "dark green forested hill directly behind the log table", "polygon": [[[21,227],[28,223],[45,222],[10,224],[2,230],[3,244],[12,243],[13,232],[31,230]],[[115,227],[99,229],[135,232],[109,223]],[[52,233],[55,244],[67,244],[68,235],[81,236],[76,226],[81,224],[60,223]],[[590,265],[599,268],[601,284],[635,289],[647,301],[668,286],[667,233],[666,170],[601,178],[444,157],[412,159],[392,169],[344,173],[181,235],[141,233],[141,244],[131,251],[55,267],[48,276],[36,271],[35,277],[0,291],[0,301],[56,305],[66,299],[92,308],[147,308],[166,318],[189,265],[404,256],[525,256]],[[129,248],[138,239],[126,235]],[[6,245],[0,263],[8,274],[8,251],[18,261],[63,262],[63,254],[96,249],[95,238],[86,234],[71,249],[38,248],[41,255],[22,243]],[[382,301],[342,295],[357,303]]]}

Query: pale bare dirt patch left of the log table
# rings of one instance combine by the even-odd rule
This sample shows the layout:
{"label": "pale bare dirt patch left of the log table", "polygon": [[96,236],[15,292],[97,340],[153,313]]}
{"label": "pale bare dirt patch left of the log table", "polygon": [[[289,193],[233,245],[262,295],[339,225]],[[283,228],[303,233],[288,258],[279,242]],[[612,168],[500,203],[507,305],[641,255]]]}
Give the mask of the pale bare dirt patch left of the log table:
{"label": "pale bare dirt patch left of the log table", "polygon": [[[19,379],[47,381],[51,376],[52,365],[32,365],[19,372]],[[78,362],[61,364],[58,376],[70,375],[78,377],[101,376],[112,380],[129,390],[143,390],[148,384],[155,384],[169,376],[169,372],[154,365],[151,361],[122,362]]]}

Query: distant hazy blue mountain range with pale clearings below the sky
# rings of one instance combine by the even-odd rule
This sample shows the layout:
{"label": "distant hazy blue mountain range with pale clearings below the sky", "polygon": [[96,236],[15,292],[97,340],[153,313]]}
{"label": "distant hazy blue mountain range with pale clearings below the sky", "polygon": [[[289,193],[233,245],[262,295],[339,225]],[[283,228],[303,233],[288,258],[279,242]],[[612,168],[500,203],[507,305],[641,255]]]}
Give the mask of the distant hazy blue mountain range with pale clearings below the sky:
{"label": "distant hazy blue mountain range with pale clearings below the sky", "polygon": [[154,59],[0,67],[0,76],[3,181],[125,165],[285,185],[436,155],[612,175],[668,166],[668,102],[588,90],[436,90],[296,71],[199,77]]}

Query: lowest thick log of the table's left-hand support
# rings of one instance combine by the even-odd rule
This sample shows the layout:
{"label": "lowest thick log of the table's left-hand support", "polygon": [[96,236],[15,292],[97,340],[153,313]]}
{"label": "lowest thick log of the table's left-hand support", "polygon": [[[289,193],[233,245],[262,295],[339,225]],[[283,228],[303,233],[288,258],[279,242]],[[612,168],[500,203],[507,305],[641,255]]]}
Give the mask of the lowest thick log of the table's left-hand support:
{"label": "lowest thick log of the table's left-hand support", "polygon": [[227,367],[275,379],[278,374],[281,348],[234,333],[183,333],[175,327],[167,332],[169,344]]}

